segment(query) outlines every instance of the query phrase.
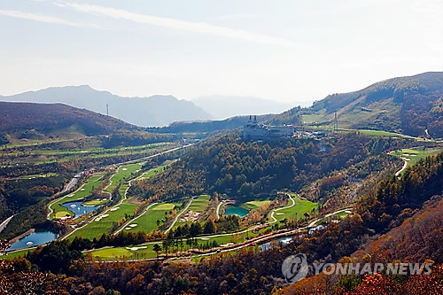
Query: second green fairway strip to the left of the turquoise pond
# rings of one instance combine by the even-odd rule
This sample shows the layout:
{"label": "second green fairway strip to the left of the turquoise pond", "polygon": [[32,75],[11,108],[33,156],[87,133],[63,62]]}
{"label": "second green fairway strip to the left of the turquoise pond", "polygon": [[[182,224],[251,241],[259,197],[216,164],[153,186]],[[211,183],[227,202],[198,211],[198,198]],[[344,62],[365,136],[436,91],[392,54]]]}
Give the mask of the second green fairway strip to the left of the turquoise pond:
{"label": "second green fairway strip to the left of the turquoise pond", "polygon": [[[125,227],[125,231],[138,231],[144,230],[149,233],[152,229],[157,229],[159,226],[163,224],[161,220],[165,219],[166,214],[172,209],[174,209],[175,204],[172,203],[161,203],[152,206],[148,209],[146,213],[144,213],[141,217],[137,218],[136,221],[133,221]],[[159,221],[159,225],[157,225],[157,221]],[[131,227],[131,224],[136,224],[136,226]]]}

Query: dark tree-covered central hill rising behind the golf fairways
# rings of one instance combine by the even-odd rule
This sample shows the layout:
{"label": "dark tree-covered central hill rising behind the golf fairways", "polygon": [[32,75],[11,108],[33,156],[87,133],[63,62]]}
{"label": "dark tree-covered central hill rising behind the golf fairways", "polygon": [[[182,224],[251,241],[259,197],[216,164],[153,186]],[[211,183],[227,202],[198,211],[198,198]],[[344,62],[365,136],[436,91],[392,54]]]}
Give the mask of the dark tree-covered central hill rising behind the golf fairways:
{"label": "dark tree-covered central hill rising behind the golf fairways", "polygon": [[398,141],[353,133],[322,141],[284,138],[267,143],[221,136],[199,144],[162,177],[139,182],[137,192],[144,198],[167,199],[217,191],[240,199],[273,190],[299,190],[395,144]]}

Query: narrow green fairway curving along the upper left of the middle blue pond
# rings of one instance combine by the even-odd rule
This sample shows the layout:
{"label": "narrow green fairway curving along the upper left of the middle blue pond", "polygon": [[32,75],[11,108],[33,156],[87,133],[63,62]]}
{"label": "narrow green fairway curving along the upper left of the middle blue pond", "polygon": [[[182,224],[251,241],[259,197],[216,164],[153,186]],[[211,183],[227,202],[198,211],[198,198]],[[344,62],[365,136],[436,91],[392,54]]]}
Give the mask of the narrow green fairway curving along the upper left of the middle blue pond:
{"label": "narrow green fairway curving along the upper left of the middle blue pond", "polygon": [[53,202],[51,202],[49,207],[51,207],[53,213],[50,214],[50,219],[66,217],[66,215],[74,216],[74,213],[72,213],[66,207],[61,205],[67,202],[72,202],[78,199],[88,197],[91,194],[92,190],[97,189],[98,185],[100,184],[102,176],[103,173],[97,173],[95,175],[90,176],[88,181],[79,190],[76,190],[74,193],[71,193],[64,198],[58,198]]}

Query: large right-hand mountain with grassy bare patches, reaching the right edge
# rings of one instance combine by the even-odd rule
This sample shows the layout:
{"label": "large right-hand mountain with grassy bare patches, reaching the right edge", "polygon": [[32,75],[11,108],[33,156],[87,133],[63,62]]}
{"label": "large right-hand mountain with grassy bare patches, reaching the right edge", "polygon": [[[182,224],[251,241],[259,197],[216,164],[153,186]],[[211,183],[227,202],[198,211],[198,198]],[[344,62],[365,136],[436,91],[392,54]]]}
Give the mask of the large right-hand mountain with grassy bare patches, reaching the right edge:
{"label": "large right-hand mountain with grassy bare patches, reaching the right edge", "polygon": [[443,73],[392,78],[358,91],[333,94],[311,107],[278,114],[269,122],[330,128],[336,113],[338,128],[443,137]]}

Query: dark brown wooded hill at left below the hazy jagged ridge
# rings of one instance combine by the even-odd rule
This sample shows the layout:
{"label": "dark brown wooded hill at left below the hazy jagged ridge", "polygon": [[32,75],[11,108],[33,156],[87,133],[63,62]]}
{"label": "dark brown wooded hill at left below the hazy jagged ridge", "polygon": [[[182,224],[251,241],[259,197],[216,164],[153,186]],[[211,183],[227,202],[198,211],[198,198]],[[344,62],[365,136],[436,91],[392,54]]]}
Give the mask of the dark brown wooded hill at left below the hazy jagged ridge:
{"label": "dark brown wooded hill at left below the hazy jagged ridge", "polygon": [[122,120],[61,104],[0,102],[0,144],[99,136],[105,148],[171,140]]}

